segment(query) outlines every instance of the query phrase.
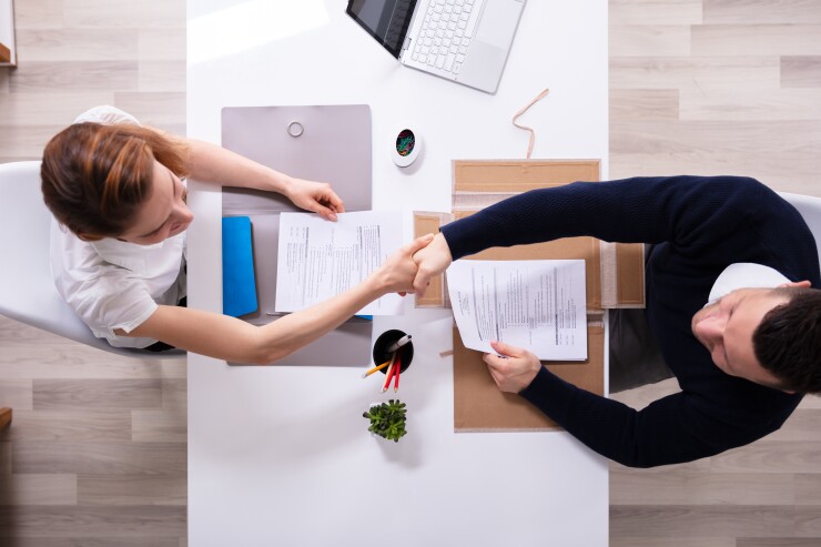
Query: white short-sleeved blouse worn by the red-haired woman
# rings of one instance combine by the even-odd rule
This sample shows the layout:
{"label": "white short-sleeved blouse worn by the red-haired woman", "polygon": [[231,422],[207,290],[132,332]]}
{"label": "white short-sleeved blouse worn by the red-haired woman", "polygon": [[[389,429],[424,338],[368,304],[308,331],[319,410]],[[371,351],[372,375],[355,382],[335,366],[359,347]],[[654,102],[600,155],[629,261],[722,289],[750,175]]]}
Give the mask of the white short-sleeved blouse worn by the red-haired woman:
{"label": "white short-sleeved blouse worn by the red-haired woman", "polygon": [[[97,107],[74,123],[135,123],[113,107]],[[185,183],[185,181],[183,181]],[[185,232],[153,245],[107,237],[82,241],[51,222],[51,273],[60,295],[94,336],[116,347],[145,347],[152,338],[116,336],[140,326],[159,304],[176,305],[185,296]]]}

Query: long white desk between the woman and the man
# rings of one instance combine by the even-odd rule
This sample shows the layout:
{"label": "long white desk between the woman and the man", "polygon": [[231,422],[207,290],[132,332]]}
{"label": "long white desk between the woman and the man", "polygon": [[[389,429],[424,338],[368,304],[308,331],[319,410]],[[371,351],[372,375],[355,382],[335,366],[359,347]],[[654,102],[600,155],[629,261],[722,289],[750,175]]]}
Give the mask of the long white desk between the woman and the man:
{"label": "long white desk between the woman and the man", "polygon": [[[399,65],[344,4],[190,0],[190,136],[220,142],[225,105],[369,104],[374,207],[402,204],[409,234],[412,210],[449,210],[452,159],[524,158],[510,118],[549,87],[523,119],[534,158],[600,158],[606,176],[605,0],[530,0],[496,95]],[[425,140],[413,173],[388,156],[404,120]],[[221,194],[192,190],[189,302],[220,311]],[[452,320],[407,304],[374,325],[416,342],[398,444],[366,432],[363,411],[387,397],[362,369],[190,356],[190,545],[607,544],[607,463],[566,433],[454,434],[452,359],[439,357]]]}

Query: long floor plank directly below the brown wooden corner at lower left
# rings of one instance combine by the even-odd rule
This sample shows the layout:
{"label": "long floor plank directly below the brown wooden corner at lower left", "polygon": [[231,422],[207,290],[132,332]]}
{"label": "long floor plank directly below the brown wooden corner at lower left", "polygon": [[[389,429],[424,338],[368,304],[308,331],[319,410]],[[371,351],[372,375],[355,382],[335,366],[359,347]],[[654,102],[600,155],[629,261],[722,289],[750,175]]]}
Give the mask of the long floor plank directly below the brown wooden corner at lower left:
{"label": "long floor plank directly below the brown wooden corner at lower left", "polygon": [[181,443],[21,440],[11,452],[12,473],[179,475],[187,464]]}

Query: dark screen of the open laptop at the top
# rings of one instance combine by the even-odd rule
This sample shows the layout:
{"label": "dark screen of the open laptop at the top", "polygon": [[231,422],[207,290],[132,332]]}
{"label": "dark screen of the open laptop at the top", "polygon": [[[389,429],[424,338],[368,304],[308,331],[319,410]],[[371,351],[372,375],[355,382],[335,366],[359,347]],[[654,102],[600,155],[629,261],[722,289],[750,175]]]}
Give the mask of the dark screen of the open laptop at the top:
{"label": "dark screen of the open laptop at the top", "polygon": [[415,7],[416,0],[348,0],[345,11],[398,59]]}

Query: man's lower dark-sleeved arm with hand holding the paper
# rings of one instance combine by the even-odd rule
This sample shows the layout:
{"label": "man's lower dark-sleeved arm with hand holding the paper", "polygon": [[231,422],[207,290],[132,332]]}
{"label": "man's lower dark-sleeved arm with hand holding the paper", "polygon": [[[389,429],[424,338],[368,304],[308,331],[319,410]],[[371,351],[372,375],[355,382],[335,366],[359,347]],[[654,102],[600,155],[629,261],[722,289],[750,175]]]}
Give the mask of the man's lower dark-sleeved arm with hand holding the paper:
{"label": "man's lower dark-sleeved arm with hand holding the paper", "polygon": [[691,462],[770,433],[749,428],[752,419],[722,422],[709,403],[685,393],[635,411],[562,381],[530,352],[499,342],[493,347],[503,356],[485,354],[484,361],[499,389],[521,395],[589,448],[626,466]]}

